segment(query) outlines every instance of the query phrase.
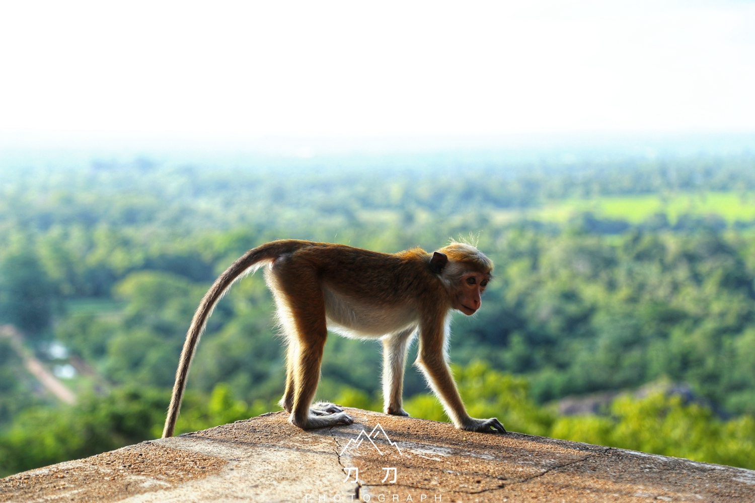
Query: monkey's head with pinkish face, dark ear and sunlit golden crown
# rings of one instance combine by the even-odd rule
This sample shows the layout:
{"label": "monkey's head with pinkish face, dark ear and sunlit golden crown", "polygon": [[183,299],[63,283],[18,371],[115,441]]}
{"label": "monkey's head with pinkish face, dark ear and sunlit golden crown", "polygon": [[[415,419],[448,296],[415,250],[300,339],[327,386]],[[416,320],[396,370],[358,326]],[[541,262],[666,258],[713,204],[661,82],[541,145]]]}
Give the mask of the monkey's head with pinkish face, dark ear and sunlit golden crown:
{"label": "monkey's head with pinkish face, dark ear and sunlit golden crown", "polygon": [[433,253],[430,269],[441,275],[451,294],[451,308],[471,316],[482,305],[493,262],[471,244],[451,243]]}

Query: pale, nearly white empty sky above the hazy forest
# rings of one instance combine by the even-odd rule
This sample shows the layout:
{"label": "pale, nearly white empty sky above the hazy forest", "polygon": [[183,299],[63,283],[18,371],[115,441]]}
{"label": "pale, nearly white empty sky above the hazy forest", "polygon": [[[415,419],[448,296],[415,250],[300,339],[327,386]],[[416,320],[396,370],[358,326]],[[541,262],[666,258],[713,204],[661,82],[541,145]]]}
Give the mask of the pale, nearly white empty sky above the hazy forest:
{"label": "pale, nearly white empty sky above the hazy forest", "polygon": [[2,2],[0,134],[755,131],[755,2]]}

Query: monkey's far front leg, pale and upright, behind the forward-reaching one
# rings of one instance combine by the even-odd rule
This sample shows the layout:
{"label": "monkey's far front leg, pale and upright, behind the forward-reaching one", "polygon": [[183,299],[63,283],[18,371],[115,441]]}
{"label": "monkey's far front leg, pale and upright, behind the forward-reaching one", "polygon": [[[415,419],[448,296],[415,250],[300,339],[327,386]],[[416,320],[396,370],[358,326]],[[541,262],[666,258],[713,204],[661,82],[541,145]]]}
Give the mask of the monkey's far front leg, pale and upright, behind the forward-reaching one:
{"label": "monkey's far front leg, pale and upright, behind the forward-reaching one", "polygon": [[406,353],[416,327],[383,339],[383,412],[393,416],[408,416],[403,409],[404,370]]}

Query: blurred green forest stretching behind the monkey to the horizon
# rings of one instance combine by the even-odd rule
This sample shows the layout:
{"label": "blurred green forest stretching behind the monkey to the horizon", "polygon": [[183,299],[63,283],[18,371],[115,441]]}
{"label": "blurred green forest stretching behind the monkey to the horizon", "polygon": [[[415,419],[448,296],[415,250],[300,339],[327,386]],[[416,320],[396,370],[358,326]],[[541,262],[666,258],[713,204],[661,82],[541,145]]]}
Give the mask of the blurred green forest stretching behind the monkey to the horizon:
{"label": "blurred green forest stretching behind the monkey to the horizon", "polygon": [[[495,263],[481,312],[451,326],[473,416],[755,468],[755,156],[0,170],[0,324],[23,333],[0,336],[0,474],[158,437],[193,311],[245,250],[433,250],[460,236]],[[319,398],[380,409],[379,345],[331,336]],[[270,294],[247,278],[211,317],[179,432],[278,409],[282,361]],[[559,413],[564,397],[609,391],[597,413]],[[404,394],[412,416],[447,420],[413,367]]]}

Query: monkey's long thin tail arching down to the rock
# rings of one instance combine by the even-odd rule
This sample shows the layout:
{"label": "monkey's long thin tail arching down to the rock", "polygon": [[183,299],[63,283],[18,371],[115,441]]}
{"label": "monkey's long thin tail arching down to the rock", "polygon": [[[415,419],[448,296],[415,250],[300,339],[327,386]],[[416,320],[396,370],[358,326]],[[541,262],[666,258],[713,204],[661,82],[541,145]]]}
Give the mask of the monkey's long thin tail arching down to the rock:
{"label": "monkey's long thin tail arching down to the rock", "polygon": [[199,337],[205,331],[207,320],[212,314],[215,305],[223,295],[230,289],[231,285],[240,278],[253,273],[263,265],[263,262],[275,260],[283,253],[291,252],[303,244],[302,241],[273,241],[263,244],[260,247],[252,248],[242,255],[236,262],[230,265],[220,277],[215,280],[210,290],[205,293],[202,302],[194,313],[189,331],[186,332],[186,341],[183,342],[183,351],[178,362],[176,370],[176,382],[173,385],[173,395],[171,404],[168,406],[168,417],[165,418],[165,428],[162,430],[162,437],[172,437],[178,419],[178,412],[183,399],[183,390],[186,388],[186,377],[189,376],[189,367],[194,356]]}

